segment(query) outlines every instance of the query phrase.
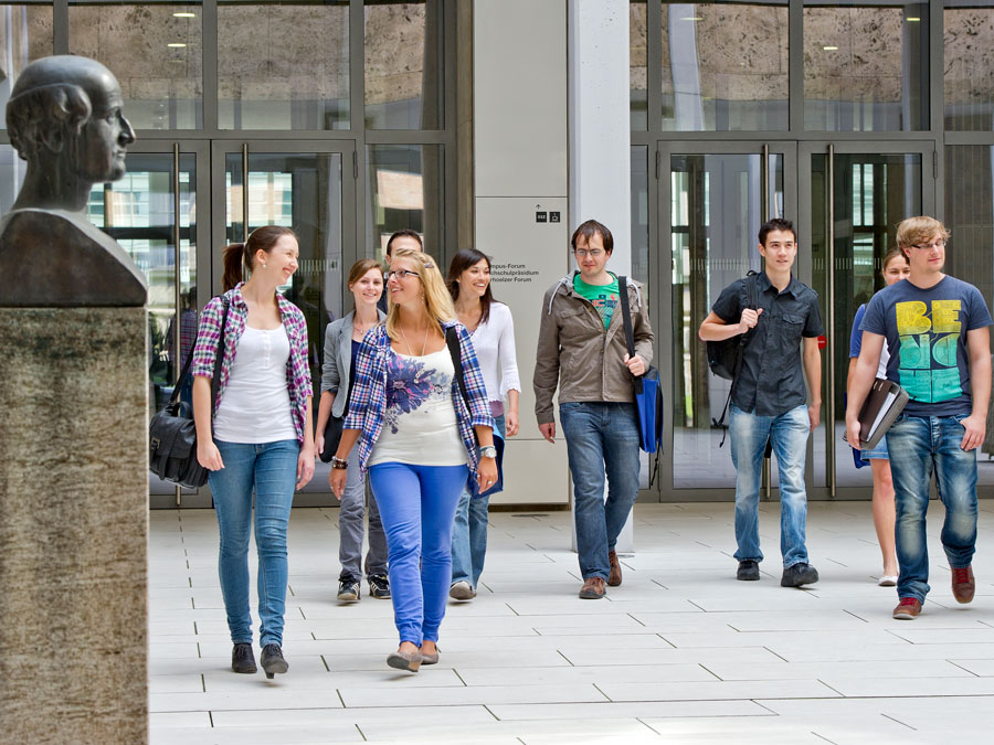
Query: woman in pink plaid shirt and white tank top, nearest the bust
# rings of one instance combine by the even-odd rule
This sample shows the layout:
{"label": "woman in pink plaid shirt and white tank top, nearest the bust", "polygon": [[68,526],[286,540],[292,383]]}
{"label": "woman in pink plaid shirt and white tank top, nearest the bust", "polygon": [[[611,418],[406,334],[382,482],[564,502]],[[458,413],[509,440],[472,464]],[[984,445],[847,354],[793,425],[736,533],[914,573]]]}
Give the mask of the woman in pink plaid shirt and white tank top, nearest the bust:
{"label": "woman in pink plaid shirt and white tank top, nearest the bust", "polygon": [[[304,313],[276,291],[297,270],[297,238],[287,227],[256,228],[224,248],[224,300],[208,302],[193,350],[197,459],[208,482],[221,532],[221,594],[234,645],[234,672],[256,671],[248,611],[248,533],[255,492],[258,551],[260,662],[267,678],[286,672],[286,528],[294,490],[314,476],[310,368]],[[242,264],[248,281],[241,283]],[[216,401],[211,377],[223,333]]]}

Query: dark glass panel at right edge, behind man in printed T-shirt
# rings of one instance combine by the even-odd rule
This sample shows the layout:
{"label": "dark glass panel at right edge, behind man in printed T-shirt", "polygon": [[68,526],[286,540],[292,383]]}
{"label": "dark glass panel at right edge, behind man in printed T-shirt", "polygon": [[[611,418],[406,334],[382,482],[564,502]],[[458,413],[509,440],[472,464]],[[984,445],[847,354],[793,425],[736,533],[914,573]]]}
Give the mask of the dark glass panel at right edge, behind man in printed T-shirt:
{"label": "dark glass panel at right edge, behind man in printed T-shirt", "polygon": [[[945,273],[974,285],[994,307],[994,147],[947,146],[945,226],[952,234],[945,248]],[[987,429],[977,455],[981,483],[994,483],[994,407],[987,407]]]}

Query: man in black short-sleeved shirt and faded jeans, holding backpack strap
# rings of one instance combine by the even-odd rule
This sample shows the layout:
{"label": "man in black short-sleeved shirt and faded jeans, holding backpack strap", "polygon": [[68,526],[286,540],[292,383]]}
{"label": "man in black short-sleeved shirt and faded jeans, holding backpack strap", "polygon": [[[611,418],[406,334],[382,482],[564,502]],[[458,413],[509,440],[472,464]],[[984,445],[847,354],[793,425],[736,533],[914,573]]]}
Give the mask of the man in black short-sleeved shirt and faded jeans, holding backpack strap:
{"label": "man in black short-sleeved shirt and faded jeans, holding backpack strap", "polygon": [[[702,341],[748,334],[740,348],[729,409],[736,466],[736,576],[743,581],[760,578],[759,490],[770,440],[780,467],[780,584],[800,587],[818,581],[805,545],[804,464],[807,438],[818,425],[822,405],[817,338],[824,329],[817,292],[791,275],[797,256],[793,223],[780,219],[765,223],[759,232],[759,253],[765,259],[764,270],[726,287],[698,334]],[[754,298],[754,308],[749,307],[750,297]],[[808,405],[804,379],[811,392]]]}

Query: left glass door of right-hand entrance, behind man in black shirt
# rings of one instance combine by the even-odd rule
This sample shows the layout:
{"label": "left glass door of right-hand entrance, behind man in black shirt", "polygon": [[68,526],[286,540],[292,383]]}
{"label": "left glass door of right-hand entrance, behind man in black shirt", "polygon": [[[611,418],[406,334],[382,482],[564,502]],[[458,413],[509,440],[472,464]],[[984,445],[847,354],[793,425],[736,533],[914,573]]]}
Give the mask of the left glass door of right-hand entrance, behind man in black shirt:
{"label": "left glass door of right-hand entrance, behind man in black shirt", "polygon": [[659,245],[670,254],[670,278],[658,284],[669,323],[656,326],[657,366],[673,379],[662,497],[713,499],[728,490],[722,496],[731,498],[730,445],[719,447],[725,429],[717,424],[730,384],[710,374],[697,330],[726,286],[761,268],[762,223],[795,214],[793,145],[659,142]]}

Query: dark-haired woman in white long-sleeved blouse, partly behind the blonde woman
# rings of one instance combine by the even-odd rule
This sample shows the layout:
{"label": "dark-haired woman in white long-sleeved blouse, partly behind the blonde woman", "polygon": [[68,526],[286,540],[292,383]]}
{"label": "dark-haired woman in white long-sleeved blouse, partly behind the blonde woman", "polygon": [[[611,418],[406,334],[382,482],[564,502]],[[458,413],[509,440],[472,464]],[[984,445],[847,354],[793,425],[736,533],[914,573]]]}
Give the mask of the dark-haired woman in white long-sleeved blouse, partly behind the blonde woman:
{"label": "dark-haired woman in white long-sleeved blouse, partly behind the blonde woman", "polygon": [[[472,600],[487,553],[487,504],[490,494],[504,488],[500,470],[504,437],[518,434],[518,362],[515,356],[515,324],[510,309],[494,300],[490,291],[490,259],[475,248],[463,248],[452,258],[446,280],[459,322],[469,331],[479,369],[487,387],[490,413],[497,426],[497,483],[484,493],[473,479],[459,497],[452,528],[452,587],[450,597]],[[505,406],[505,400],[507,406]]]}

